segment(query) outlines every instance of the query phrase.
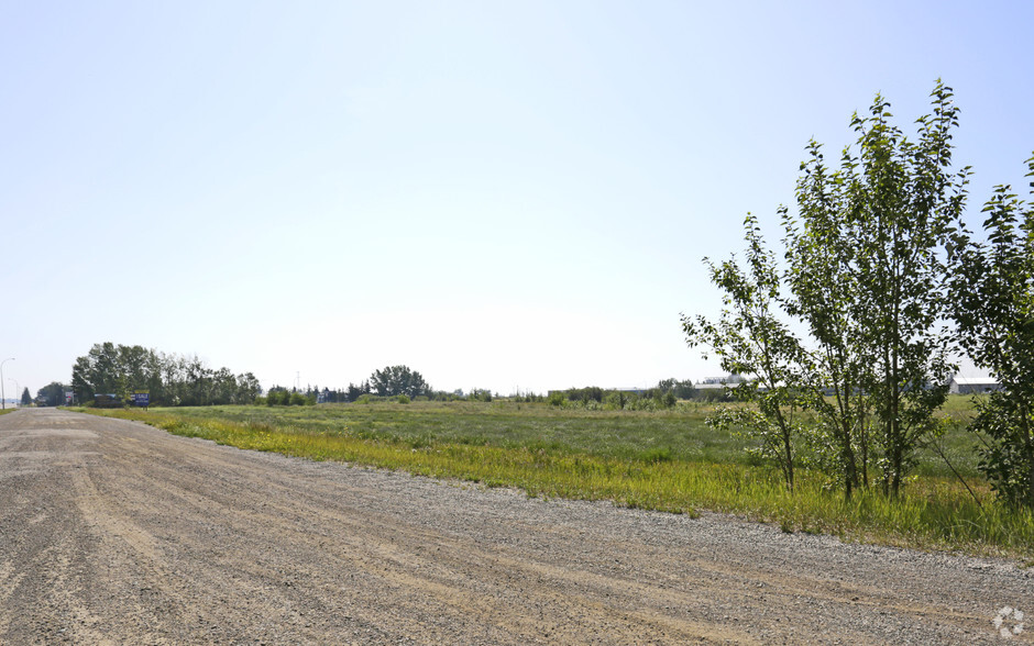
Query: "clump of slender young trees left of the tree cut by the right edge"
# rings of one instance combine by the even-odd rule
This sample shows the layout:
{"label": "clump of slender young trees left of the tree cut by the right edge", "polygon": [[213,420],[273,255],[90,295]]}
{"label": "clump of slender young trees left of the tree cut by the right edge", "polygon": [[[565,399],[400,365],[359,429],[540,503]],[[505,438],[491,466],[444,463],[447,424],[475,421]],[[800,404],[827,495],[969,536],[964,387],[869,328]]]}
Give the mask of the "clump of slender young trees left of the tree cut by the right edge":
{"label": "clump of slender young trees left of the tree cut by the right edge", "polygon": [[[845,148],[833,172],[811,142],[799,214],[780,209],[785,269],[762,250],[748,218],[749,270],[734,261],[712,267],[725,292],[723,320],[683,318],[690,345],[711,345],[725,369],[752,376],[737,393],[760,416],[744,423],[762,437],[782,436],[781,464],[793,435],[782,411],[813,412],[807,438],[820,464],[843,476],[847,495],[868,484],[870,456],[883,490],[899,491],[947,394],[945,258],[969,175],[950,169],[952,96],[938,81],[933,113],[917,121],[912,142],[891,125],[890,104],[878,94],[868,116],[854,115],[857,149]],[[784,316],[806,330],[806,341],[790,334]]]}

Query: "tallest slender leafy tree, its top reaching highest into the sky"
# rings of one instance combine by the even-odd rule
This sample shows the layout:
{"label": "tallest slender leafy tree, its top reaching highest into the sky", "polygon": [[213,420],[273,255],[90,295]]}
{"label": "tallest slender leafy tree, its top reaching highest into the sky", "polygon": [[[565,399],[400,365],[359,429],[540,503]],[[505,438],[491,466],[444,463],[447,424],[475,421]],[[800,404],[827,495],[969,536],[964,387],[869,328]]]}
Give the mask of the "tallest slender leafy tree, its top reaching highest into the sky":
{"label": "tallest slender leafy tree, its top reaching highest into the sky", "polygon": [[952,336],[943,325],[948,235],[966,203],[969,168],[952,171],[958,108],[937,82],[933,114],[917,120],[910,142],[890,125],[889,103],[877,97],[871,115],[855,116],[860,153],[845,154],[840,179],[849,187],[846,237],[855,250],[858,287],[854,315],[871,370],[861,387],[872,396],[882,452],[883,489],[897,493],[913,466],[933,413],[947,396]]}

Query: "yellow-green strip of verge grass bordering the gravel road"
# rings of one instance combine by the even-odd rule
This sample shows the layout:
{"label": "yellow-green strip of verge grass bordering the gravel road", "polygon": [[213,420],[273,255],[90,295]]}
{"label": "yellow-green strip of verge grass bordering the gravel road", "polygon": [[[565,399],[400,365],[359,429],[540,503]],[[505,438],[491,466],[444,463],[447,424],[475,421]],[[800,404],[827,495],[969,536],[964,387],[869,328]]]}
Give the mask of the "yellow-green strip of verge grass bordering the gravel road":
{"label": "yellow-green strip of verge grass bordering the gravel road", "polygon": [[[177,435],[240,448],[455,478],[488,487],[515,487],[531,497],[610,500],[630,508],[689,514],[707,509],[776,523],[787,532],[833,534],[846,541],[920,549],[1034,558],[1034,514],[1000,505],[987,484],[976,479],[970,487],[977,491],[980,503],[961,483],[941,476],[912,478],[897,500],[877,492],[861,492],[845,501],[839,492],[828,490],[825,479],[816,474],[801,474],[796,491],[790,494],[772,469],[736,461],[690,459],[666,446],[594,453],[580,449],[581,441],[562,441],[562,433],[552,443],[543,444],[519,433],[518,438],[507,442],[505,433],[503,439],[495,437],[501,432],[491,414],[482,417],[484,428],[476,442],[426,431],[374,433],[354,427],[355,419],[346,413],[355,408],[356,404],[349,404],[337,406],[337,411],[328,409],[329,412],[248,406],[89,412],[136,420]],[[393,409],[389,417],[414,427],[420,426],[420,415],[433,412],[432,406],[400,408]],[[417,421],[407,421],[407,415],[417,415]],[[549,412],[550,415],[553,413]],[[552,425],[562,427],[569,420],[557,414]],[[541,421],[536,424],[549,425]],[[574,426],[578,435],[578,424]],[[657,435],[653,428],[658,424],[651,425],[648,420],[639,426],[631,433],[635,437],[628,441],[628,446],[644,446],[642,433]]]}

